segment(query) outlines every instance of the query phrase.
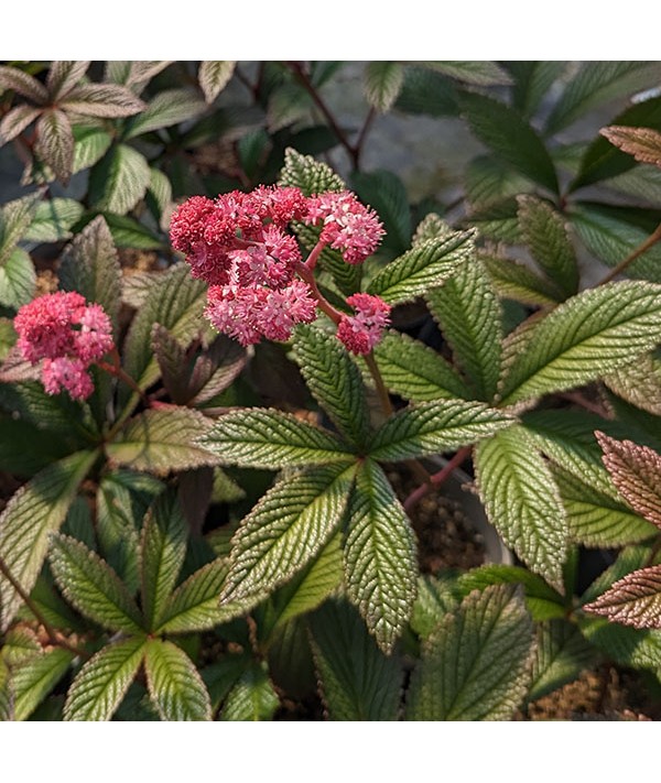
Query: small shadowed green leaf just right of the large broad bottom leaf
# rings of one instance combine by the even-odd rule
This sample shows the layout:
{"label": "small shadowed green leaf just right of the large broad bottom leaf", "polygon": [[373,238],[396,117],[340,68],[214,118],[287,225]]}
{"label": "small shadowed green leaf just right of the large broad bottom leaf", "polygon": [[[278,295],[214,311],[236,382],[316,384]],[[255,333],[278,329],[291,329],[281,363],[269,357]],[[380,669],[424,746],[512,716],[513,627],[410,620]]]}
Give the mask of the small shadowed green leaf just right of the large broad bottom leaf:
{"label": "small shadowed green leaf just right of the large broad bottom leaf", "polygon": [[576,679],[594,665],[595,652],[578,629],[564,620],[537,627],[537,649],[532,659],[532,682],[528,702],[535,702]]}

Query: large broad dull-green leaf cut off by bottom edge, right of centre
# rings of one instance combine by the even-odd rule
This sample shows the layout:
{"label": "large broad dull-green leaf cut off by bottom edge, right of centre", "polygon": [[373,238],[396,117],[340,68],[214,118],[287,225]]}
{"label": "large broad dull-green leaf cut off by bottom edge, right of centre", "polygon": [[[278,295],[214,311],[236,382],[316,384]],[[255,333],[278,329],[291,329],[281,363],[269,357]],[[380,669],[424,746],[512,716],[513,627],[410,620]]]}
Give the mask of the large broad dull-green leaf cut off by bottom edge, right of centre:
{"label": "large broad dull-green leaf cut off by bottom edge, right of centre", "polygon": [[508,720],[523,699],[533,646],[520,589],[472,592],[422,644],[409,720]]}

